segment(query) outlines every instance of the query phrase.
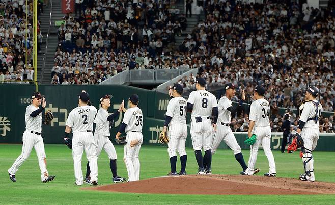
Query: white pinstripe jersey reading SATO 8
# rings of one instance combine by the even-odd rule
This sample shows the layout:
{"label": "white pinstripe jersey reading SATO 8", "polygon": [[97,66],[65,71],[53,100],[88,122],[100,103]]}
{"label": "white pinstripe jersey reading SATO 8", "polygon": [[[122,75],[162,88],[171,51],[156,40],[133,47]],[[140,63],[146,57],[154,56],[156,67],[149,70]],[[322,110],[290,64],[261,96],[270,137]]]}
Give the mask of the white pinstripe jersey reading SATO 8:
{"label": "white pinstripe jersey reading SATO 8", "polygon": [[217,107],[216,97],[207,90],[192,91],[187,103],[193,104],[191,117],[209,117],[212,114],[212,108]]}

